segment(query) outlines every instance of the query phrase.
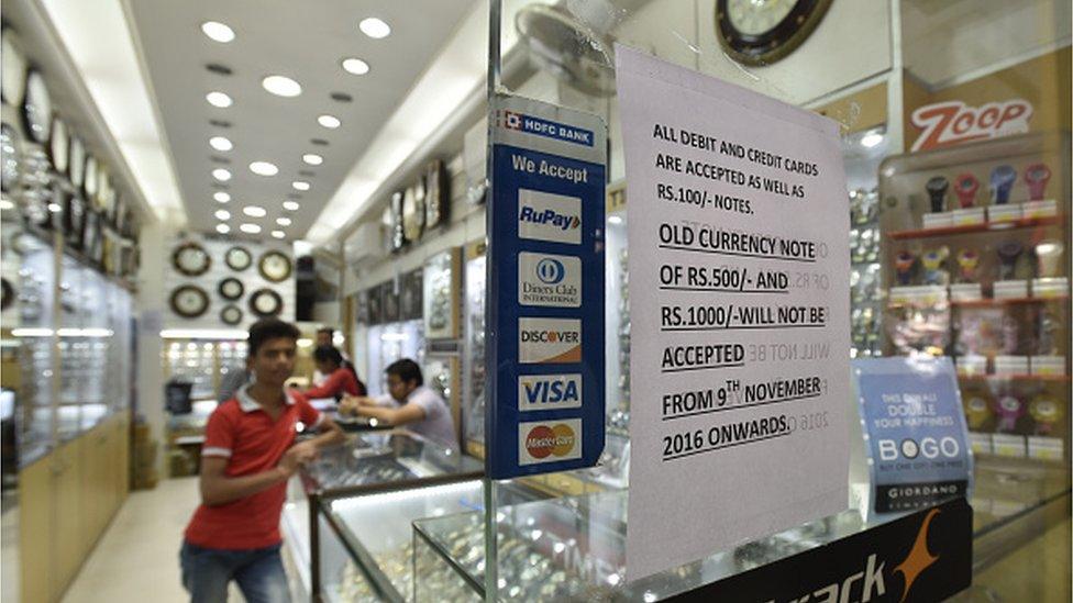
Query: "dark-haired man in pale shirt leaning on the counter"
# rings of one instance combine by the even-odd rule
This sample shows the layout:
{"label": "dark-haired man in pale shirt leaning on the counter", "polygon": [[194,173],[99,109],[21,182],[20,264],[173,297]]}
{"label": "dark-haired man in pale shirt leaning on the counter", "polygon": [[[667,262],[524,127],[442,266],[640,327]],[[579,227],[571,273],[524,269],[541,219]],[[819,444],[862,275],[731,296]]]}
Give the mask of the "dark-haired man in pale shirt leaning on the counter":
{"label": "dark-haired man in pale shirt leaning on the counter", "polygon": [[417,434],[457,449],[451,409],[424,384],[421,367],[403,358],[392,362],[384,372],[387,373],[388,395],[346,397],[340,403],[340,414],[375,418],[388,425],[405,425]]}

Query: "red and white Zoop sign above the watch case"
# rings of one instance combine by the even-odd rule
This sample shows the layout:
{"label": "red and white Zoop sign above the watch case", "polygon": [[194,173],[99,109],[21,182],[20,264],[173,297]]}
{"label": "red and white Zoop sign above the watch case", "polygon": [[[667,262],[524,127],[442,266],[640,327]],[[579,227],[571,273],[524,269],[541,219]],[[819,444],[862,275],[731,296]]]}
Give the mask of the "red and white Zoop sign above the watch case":
{"label": "red and white Zoop sign above the watch case", "polygon": [[927,150],[983,138],[1028,132],[1032,104],[1024,99],[969,107],[961,101],[937,102],[912,112],[912,125],[923,130],[912,150]]}

